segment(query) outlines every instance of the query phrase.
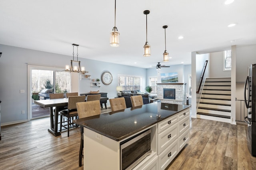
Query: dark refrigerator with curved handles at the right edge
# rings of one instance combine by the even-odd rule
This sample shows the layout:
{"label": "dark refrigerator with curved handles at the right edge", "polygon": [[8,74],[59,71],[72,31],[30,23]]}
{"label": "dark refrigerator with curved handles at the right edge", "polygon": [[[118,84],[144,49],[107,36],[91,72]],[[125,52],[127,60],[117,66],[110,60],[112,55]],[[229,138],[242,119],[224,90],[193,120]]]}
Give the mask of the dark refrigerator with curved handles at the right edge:
{"label": "dark refrigerator with curved handles at the right edge", "polygon": [[244,102],[248,109],[244,121],[247,122],[247,145],[252,156],[256,156],[256,64],[248,67],[248,76],[244,83]]}

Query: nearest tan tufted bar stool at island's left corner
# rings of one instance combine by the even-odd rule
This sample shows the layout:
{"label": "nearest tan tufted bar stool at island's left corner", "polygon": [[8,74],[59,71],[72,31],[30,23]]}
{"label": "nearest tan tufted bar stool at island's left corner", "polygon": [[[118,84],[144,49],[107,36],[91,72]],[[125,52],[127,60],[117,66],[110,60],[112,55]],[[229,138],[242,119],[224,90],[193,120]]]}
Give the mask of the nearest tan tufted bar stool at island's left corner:
{"label": "nearest tan tufted bar stool at island's left corner", "polygon": [[[76,108],[77,108],[79,119],[84,117],[94,116],[94,115],[100,115],[101,113],[99,100],[76,103]],[[80,132],[81,132],[81,140],[80,140],[80,150],[79,150],[79,166],[82,166],[82,158],[84,158],[84,155],[83,155],[84,127],[80,126]]]}

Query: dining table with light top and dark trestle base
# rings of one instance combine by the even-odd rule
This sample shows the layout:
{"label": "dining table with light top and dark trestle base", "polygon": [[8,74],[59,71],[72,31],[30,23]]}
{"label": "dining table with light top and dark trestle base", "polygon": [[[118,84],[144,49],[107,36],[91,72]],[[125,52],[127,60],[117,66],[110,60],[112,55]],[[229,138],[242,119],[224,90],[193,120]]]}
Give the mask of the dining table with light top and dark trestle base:
{"label": "dining table with light top and dark trestle base", "polygon": [[[107,97],[100,97],[100,101],[108,100]],[[60,109],[68,106],[68,98],[62,99],[46,99],[46,100],[36,100],[34,101],[36,105],[39,105],[43,108],[50,108],[50,128],[48,131],[51,132],[54,136],[60,136],[60,131],[58,130],[58,114],[54,116],[53,107],[55,107],[55,113],[59,113]]]}

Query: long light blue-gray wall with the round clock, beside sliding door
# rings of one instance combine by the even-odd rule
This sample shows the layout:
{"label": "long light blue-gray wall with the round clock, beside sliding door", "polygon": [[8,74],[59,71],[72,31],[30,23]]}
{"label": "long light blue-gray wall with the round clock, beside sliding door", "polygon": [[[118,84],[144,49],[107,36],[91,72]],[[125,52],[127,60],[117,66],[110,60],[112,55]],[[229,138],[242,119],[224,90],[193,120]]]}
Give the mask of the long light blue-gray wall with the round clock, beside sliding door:
{"label": "long light blue-gray wall with the round clock, beside sliding door", "polygon": [[[0,99],[1,103],[1,125],[20,123],[28,120],[28,66],[27,63],[65,67],[70,64],[72,56],[47,53],[31,49],[24,49],[0,44]],[[78,80],[79,93],[87,93],[90,90],[108,93],[109,98],[116,97],[117,75],[140,75],[142,76],[142,88],[146,85],[146,69],[130,67],[95,61],[91,59],[79,59],[81,65],[86,67],[86,71],[92,78],[101,78],[101,73],[110,71],[113,81],[110,85],[101,87],[90,87],[90,80]],[[25,93],[20,93],[24,89]],[[24,110],[25,114],[21,114]]]}

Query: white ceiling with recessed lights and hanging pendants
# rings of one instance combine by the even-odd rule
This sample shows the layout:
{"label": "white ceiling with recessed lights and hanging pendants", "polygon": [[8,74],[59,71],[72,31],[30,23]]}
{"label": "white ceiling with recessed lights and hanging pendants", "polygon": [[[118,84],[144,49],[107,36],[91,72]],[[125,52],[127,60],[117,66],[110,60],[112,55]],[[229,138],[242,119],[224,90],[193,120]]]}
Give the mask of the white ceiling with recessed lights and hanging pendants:
{"label": "white ceiling with recessed lights and hanging pendants", "polygon": [[[120,47],[111,47],[114,0],[0,0],[0,44],[72,56],[76,43],[79,57],[148,68],[163,60],[162,26],[167,25],[166,49],[172,58],[162,64],[191,64],[192,51],[256,44],[256,1],[224,1],[116,0]],[[150,10],[150,57],[143,57],[144,10]],[[227,27],[231,23],[237,25]]]}

